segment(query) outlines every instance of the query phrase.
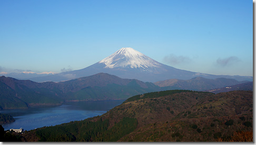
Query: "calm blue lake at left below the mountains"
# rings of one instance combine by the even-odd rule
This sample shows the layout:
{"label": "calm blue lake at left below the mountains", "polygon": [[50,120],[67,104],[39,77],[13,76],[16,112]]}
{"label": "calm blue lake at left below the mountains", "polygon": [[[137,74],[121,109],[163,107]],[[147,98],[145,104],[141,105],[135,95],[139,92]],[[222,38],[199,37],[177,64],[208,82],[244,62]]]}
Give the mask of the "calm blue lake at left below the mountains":
{"label": "calm blue lake at left below the mountains", "polygon": [[44,126],[55,126],[75,120],[101,116],[106,111],[120,105],[124,100],[65,102],[55,107],[34,107],[28,109],[3,110],[15,119],[14,122],[2,125],[5,130],[11,128],[32,130]]}

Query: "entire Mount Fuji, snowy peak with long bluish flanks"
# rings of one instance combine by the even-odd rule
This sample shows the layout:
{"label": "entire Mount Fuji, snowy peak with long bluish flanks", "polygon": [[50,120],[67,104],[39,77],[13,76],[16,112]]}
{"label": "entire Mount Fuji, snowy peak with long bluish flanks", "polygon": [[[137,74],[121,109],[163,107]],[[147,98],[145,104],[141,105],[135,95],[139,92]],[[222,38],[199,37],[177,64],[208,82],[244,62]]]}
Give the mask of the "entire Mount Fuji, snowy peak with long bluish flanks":
{"label": "entire Mount Fuji, snowy peak with long bluish flanks", "polygon": [[102,59],[98,63],[80,70],[61,72],[59,74],[45,77],[35,77],[31,78],[30,80],[37,82],[58,82],[91,76],[100,72],[115,75],[121,78],[138,79],[144,82],[155,82],[166,79],[186,80],[194,77],[204,77],[209,79],[231,78],[239,81],[252,81],[252,77],[209,75],[177,69],[168,65],[161,64],[130,47],[121,48],[114,54]]}

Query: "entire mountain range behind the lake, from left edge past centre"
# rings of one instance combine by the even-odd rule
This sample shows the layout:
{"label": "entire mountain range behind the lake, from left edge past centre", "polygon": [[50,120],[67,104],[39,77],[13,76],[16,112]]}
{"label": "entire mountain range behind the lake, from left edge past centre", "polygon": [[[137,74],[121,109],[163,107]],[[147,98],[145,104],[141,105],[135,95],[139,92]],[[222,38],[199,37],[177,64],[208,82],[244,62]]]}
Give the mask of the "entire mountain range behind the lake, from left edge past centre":
{"label": "entire mountain range behind the lake, from left edge past centre", "polygon": [[96,74],[63,82],[34,82],[0,77],[0,109],[61,105],[63,101],[127,99],[161,90],[150,82]]}

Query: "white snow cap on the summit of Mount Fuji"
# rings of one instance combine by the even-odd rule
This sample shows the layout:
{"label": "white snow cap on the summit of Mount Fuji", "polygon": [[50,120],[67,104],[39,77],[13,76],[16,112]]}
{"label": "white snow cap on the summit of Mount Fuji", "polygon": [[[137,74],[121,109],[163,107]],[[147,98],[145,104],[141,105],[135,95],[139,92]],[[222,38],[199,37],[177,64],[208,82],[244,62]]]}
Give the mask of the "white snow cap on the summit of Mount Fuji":
{"label": "white snow cap on the summit of Mount Fuji", "polygon": [[121,48],[99,63],[105,64],[105,68],[129,67],[146,69],[149,67],[159,67],[161,65],[131,47]]}

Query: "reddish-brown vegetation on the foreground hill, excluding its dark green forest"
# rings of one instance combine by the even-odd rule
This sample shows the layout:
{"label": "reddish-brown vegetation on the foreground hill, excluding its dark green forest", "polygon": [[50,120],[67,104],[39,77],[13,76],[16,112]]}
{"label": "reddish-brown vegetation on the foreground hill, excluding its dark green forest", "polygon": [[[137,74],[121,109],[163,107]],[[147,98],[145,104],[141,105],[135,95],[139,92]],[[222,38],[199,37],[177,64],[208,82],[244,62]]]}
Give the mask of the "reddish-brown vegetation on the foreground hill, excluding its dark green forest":
{"label": "reddish-brown vegetation on the foreground hill, excluding its dark green forest", "polygon": [[[111,129],[122,118],[135,118],[136,128],[117,140],[122,142],[252,141],[252,91],[217,95],[180,92],[154,98],[143,97],[125,101],[104,115],[87,120],[109,120]],[[33,131],[30,134],[33,136]]]}

